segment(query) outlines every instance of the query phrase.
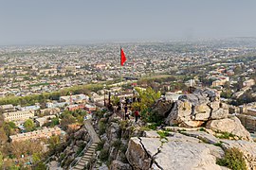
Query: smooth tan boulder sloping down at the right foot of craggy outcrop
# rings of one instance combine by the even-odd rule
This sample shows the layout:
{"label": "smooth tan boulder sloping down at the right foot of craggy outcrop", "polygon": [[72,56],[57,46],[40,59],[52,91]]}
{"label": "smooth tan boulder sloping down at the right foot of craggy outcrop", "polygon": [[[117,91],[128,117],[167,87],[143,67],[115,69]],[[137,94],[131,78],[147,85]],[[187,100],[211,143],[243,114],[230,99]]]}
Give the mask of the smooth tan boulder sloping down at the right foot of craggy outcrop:
{"label": "smooth tan boulder sloping down at the right foot of craggy outcrop", "polygon": [[251,141],[249,132],[245,127],[243,127],[240,120],[235,116],[221,120],[211,120],[207,123],[206,127],[217,132],[229,132],[233,135],[241,137],[243,140]]}

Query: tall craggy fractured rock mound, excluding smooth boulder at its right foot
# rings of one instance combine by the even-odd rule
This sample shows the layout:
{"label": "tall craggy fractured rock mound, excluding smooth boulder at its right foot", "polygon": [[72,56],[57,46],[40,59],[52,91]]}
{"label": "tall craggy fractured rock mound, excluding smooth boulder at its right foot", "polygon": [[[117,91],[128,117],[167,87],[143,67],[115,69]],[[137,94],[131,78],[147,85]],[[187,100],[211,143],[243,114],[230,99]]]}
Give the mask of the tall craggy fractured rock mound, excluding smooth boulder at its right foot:
{"label": "tall craggy fractured rock mound, excluding smooth boulder at its right foot", "polygon": [[229,115],[228,105],[221,103],[219,95],[209,89],[182,95],[172,106],[166,119],[168,125],[200,127],[209,120],[224,119]]}

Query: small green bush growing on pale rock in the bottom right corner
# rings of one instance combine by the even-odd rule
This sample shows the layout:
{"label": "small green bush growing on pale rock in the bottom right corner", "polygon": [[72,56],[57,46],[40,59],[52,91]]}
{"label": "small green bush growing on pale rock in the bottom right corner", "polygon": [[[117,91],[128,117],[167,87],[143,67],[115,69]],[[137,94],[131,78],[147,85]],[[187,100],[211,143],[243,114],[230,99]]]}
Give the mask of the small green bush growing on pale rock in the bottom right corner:
{"label": "small green bush growing on pale rock in the bottom right corner", "polygon": [[243,153],[235,147],[227,149],[224,158],[218,159],[216,163],[221,166],[227,166],[232,170],[247,170]]}

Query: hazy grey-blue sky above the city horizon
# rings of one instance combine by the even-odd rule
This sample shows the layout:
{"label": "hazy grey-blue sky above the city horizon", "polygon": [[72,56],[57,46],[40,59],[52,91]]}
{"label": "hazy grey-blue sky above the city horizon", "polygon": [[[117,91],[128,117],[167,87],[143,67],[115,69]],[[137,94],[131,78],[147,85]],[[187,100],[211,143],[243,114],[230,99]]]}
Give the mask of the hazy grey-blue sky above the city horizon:
{"label": "hazy grey-blue sky above the city horizon", "polygon": [[0,0],[0,44],[256,37],[256,0]]}

